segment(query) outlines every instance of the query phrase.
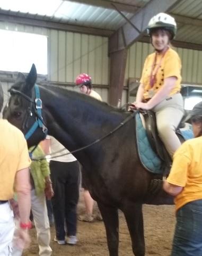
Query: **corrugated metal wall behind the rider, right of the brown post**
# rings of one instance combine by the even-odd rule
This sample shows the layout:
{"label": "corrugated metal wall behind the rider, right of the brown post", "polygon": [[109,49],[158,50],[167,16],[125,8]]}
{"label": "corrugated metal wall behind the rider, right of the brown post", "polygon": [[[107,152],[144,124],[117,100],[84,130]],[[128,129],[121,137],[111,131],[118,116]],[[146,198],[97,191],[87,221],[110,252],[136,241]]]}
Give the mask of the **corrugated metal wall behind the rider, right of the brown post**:
{"label": "corrugated metal wall behind the rider, right of the brown post", "polygon": [[[182,82],[202,85],[202,51],[185,48],[174,49],[178,52],[182,61]],[[147,43],[135,43],[129,48],[125,85],[127,85],[129,77],[140,78],[145,58],[153,51],[152,45]]]}

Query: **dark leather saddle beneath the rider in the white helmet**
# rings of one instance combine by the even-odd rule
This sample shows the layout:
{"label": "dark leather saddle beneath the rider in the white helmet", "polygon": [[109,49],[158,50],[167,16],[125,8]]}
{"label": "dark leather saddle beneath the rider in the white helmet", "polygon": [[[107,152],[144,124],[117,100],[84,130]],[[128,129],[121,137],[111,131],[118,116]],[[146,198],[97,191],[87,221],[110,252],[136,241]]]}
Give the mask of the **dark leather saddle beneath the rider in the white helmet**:
{"label": "dark leather saddle beneath the rider in the white helmet", "polygon": [[[156,126],[156,115],[151,110],[142,111],[141,114],[142,114],[142,117],[144,118],[145,130],[146,130],[148,141],[150,142],[152,150],[159,156],[159,158],[163,162],[164,175],[168,175],[170,172],[172,159],[158,135],[157,126]],[[185,121],[187,121],[187,119],[188,119],[188,114],[186,113],[182,117],[180,124],[176,130],[176,134],[180,139],[181,143],[183,143],[186,139],[184,136],[182,136],[180,128],[185,127]]]}

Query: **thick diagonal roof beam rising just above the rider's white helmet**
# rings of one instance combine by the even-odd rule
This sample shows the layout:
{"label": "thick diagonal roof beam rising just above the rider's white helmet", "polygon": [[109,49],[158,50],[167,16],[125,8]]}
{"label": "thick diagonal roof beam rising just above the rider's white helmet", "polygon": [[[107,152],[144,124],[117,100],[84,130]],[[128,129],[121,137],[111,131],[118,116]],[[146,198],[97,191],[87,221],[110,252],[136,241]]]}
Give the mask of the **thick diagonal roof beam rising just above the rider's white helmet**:
{"label": "thick diagonal roof beam rising just above the rider's white helmet", "polygon": [[109,40],[109,53],[129,47],[143,36],[148,21],[150,21],[155,14],[169,11],[180,1],[182,0],[151,0],[148,2],[130,19],[130,23],[125,23],[121,28],[113,33]]}

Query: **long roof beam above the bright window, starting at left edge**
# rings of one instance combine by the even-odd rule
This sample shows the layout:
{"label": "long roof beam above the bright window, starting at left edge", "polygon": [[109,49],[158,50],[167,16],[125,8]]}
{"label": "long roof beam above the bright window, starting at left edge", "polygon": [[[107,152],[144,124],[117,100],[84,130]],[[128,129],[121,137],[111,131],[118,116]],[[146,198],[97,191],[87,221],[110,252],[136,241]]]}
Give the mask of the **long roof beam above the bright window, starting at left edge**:
{"label": "long roof beam above the bright window, starting at left edge", "polygon": [[66,23],[59,23],[59,22],[52,22],[48,20],[37,19],[36,15],[33,15],[33,18],[24,18],[19,15],[16,16],[16,15],[7,15],[7,14],[0,13],[0,21],[18,23],[18,24],[23,24],[28,26],[43,27],[48,29],[65,30],[65,31],[77,32],[82,34],[90,34],[90,35],[96,35],[96,36],[104,36],[104,37],[109,37],[113,33],[113,30],[91,28],[91,27],[84,27],[84,26],[75,26],[75,25],[70,25]]}

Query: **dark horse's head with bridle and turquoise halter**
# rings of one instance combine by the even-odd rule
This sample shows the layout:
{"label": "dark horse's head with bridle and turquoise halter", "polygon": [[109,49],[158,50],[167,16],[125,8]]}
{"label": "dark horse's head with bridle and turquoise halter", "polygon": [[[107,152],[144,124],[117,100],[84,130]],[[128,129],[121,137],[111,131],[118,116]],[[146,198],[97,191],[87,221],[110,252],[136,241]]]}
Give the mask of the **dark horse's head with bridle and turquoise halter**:
{"label": "dark horse's head with bridle and turquoise halter", "polygon": [[[7,119],[14,126],[22,130],[27,138],[28,146],[37,145],[42,139],[45,138],[43,120],[40,115],[41,100],[36,104],[36,94],[34,92],[34,85],[37,80],[37,70],[33,64],[31,70],[25,78],[22,73],[19,73],[15,83],[8,90],[11,94],[8,104],[3,110],[3,118]],[[36,105],[39,108],[36,108]],[[35,125],[36,129],[31,127],[39,121],[40,125]],[[34,126],[34,127],[35,127]]]}

